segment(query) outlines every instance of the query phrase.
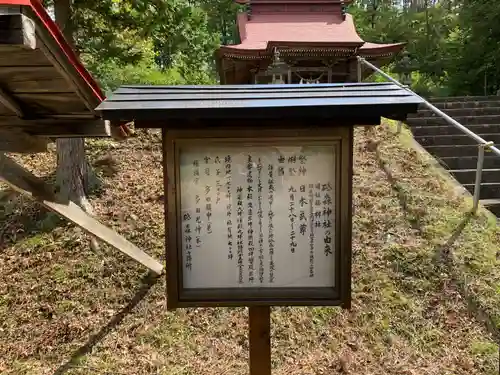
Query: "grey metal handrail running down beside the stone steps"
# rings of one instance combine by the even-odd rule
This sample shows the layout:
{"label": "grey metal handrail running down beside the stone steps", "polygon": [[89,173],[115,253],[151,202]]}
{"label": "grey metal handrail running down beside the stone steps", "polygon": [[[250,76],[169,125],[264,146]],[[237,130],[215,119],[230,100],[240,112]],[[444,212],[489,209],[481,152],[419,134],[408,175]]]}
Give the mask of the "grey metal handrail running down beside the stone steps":
{"label": "grey metal handrail running down beside the stone steps", "polygon": [[484,151],[486,148],[488,148],[491,152],[493,152],[496,156],[500,156],[500,149],[494,146],[493,142],[488,142],[485,139],[481,138],[478,136],[476,133],[471,131],[469,128],[463,126],[460,124],[457,120],[453,119],[443,111],[441,111],[439,108],[435,107],[431,103],[429,103],[427,100],[422,98],[420,95],[416,94],[413,92],[408,86],[403,85],[399,81],[395,80],[392,78],[390,75],[387,73],[383,72],[381,69],[373,65],[372,63],[366,61],[363,57],[357,56],[358,59],[358,82],[362,81],[362,64],[365,64],[369,68],[371,68],[373,71],[376,73],[382,75],[384,78],[387,80],[391,81],[392,83],[396,84],[403,90],[406,90],[410,92],[412,95],[416,96],[417,98],[422,100],[422,104],[426,106],[428,109],[430,109],[432,112],[434,112],[436,115],[444,118],[448,123],[456,127],[457,129],[461,130],[464,134],[472,138],[474,141],[478,143],[478,157],[477,157],[477,167],[476,167],[476,181],[474,185],[474,203],[473,203],[473,209],[472,211],[474,213],[477,212],[477,208],[479,207],[479,195],[480,195],[480,190],[481,190],[481,180],[482,180],[482,174],[483,174],[483,164],[484,164]]}

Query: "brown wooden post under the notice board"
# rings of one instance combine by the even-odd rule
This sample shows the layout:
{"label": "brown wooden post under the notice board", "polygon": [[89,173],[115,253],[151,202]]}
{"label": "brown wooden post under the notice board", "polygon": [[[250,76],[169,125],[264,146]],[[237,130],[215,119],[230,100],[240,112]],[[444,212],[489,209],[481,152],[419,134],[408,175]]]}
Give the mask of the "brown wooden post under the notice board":
{"label": "brown wooden post under the notice board", "polygon": [[271,375],[271,308],[249,307],[250,375]]}

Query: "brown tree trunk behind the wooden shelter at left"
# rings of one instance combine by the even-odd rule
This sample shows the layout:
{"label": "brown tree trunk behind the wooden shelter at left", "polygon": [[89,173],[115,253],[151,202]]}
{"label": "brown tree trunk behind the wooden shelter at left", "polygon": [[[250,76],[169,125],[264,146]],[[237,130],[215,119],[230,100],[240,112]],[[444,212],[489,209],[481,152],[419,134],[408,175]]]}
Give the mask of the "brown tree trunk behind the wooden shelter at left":
{"label": "brown tree trunk behind the wooden shelter at left", "polygon": [[[56,23],[67,42],[74,47],[73,25],[71,22],[71,0],[55,0]],[[58,195],[63,200],[71,200],[89,214],[93,214],[87,194],[99,185],[85,155],[83,138],[59,138],[56,140],[57,170],[56,184]],[[92,241],[95,248],[97,242]]]}

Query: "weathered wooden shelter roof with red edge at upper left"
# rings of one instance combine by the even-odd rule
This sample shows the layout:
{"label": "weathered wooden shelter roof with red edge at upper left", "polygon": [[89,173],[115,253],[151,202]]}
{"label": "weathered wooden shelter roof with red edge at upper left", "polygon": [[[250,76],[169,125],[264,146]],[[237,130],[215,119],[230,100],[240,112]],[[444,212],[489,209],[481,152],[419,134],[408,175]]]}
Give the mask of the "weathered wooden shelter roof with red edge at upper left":
{"label": "weathered wooden shelter roof with red edge at upper left", "polygon": [[0,0],[0,151],[41,152],[50,138],[102,137],[98,83],[38,0]]}

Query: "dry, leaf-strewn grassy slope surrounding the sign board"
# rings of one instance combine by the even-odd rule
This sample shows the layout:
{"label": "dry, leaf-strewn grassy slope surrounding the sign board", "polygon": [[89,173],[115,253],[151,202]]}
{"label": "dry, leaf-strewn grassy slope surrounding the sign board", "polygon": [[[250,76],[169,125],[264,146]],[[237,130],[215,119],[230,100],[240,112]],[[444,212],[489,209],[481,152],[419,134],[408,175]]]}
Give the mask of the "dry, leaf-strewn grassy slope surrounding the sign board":
{"label": "dry, leaf-strewn grassy slope surrounding the sign board", "polygon": [[[356,132],[353,308],[274,309],[273,374],[498,373],[498,345],[463,295],[499,321],[499,230],[482,213],[443,247],[470,202],[391,131],[378,129],[376,152]],[[163,259],[158,139],[94,142],[89,152],[119,161],[93,200],[99,217]],[[47,174],[54,155],[22,161]],[[92,252],[69,225],[22,230],[36,207],[3,207],[0,373],[248,372],[244,309],[166,312],[163,278],[141,288],[145,270],[117,251]]]}

